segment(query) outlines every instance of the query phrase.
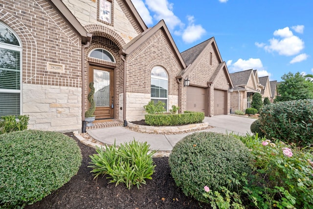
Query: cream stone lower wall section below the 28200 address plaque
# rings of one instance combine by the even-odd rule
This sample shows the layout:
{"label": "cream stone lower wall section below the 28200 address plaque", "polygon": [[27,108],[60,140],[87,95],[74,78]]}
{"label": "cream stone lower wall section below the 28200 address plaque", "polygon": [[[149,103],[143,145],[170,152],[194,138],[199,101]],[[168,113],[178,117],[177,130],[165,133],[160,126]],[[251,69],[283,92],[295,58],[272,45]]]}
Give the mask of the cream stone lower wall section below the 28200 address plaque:
{"label": "cream stone lower wall section below the 28200 address plaque", "polygon": [[29,129],[80,131],[82,90],[75,87],[23,84],[23,115]]}

